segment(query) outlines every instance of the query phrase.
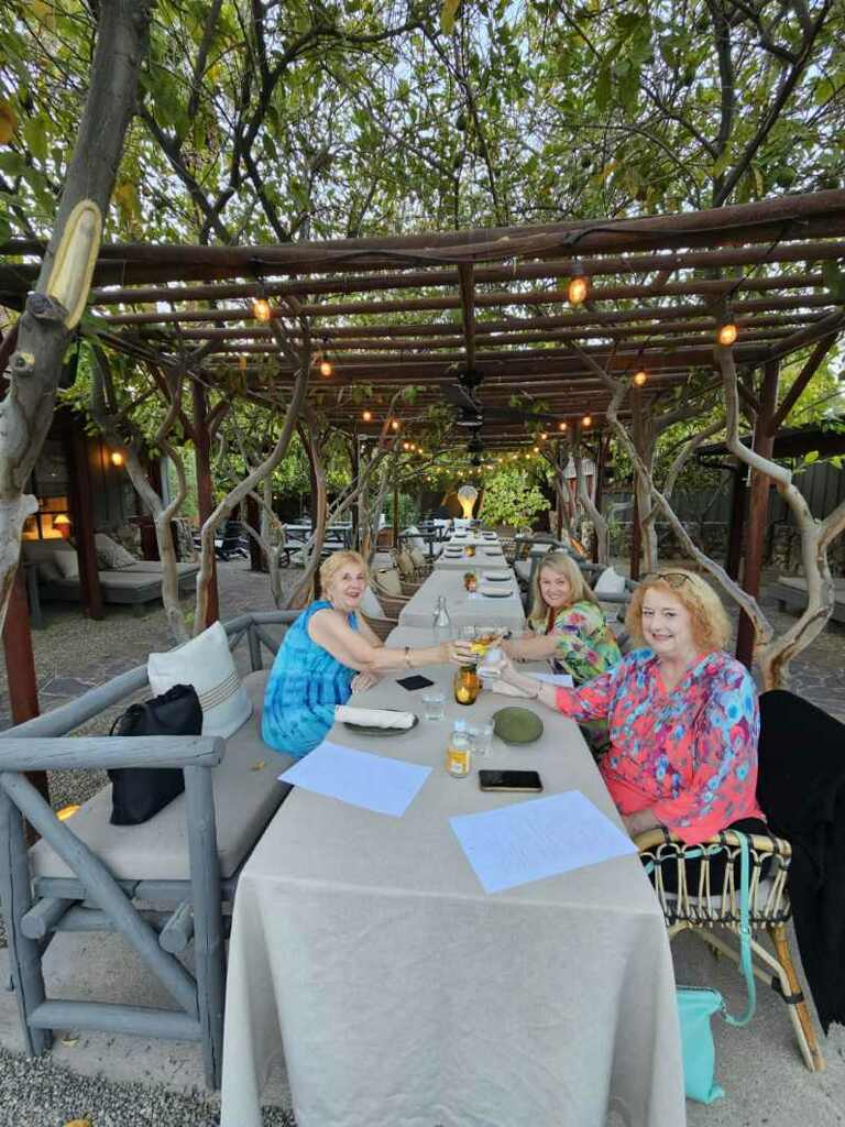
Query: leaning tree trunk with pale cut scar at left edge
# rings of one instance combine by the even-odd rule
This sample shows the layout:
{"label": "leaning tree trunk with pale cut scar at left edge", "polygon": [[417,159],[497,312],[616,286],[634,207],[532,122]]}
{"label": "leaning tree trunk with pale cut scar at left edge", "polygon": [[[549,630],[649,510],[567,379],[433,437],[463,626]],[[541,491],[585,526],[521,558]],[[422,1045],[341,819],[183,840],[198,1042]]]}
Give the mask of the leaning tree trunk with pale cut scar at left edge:
{"label": "leaning tree trunk with pale cut scar at left edge", "polygon": [[[50,429],[62,360],[88,298],[103,218],[134,110],[150,9],[150,0],[113,0],[100,6],[91,85],[53,234],[18,322],[9,391],[0,405],[0,627],[20,558],[24,522],[38,507],[24,487]],[[82,214],[75,208],[83,202]],[[54,266],[61,267],[57,252],[65,236],[70,239],[66,281],[63,268],[53,276]],[[73,308],[65,309],[59,299]]]}

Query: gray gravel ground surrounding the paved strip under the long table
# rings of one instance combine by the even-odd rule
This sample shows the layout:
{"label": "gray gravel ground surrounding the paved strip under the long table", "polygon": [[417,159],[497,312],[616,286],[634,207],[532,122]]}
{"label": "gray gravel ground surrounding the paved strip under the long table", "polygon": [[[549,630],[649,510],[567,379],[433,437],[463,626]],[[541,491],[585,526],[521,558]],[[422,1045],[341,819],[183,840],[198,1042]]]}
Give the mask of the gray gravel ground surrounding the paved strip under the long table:
{"label": "gray gravel ground surrounding the paved strip under the long table", "polygon": [[[294,582],[301,573],[288,571]],[[272,610],[267,579],[231,561],[219,566],[221,616],[244,610]],[[779,630],[791,621],[772,600],[764,605]],[[151,650],[168,649],[170,641],[163,611],[142,618],[121,607],[109,609],[101,622],[83,619],[78,609],[48,605],[46,629],[33,635],[42,710],[101,684],[115,674],[140,664]],[[792,690],[806,695],[845,720],[845,632],[829,627],[821,638],[793,663]],[[3,668],[3,680],[5,680]],[[139,694],[140,696],[145,693]],[[98,717],[80,733],[105,733],[122,704]],[[0,728],[8,727],[8,699],[0,701]],[[50,774],[51,798],[59,809],[81,802],[106,781],[103,772],[56,771]],[[0,935],[0,946],[5,937]],[[64,1127],[69,1120],[88,1119],[90,1127],[214,1127],[215,1100],[197,1092],[175,1093],[163,1085],[114,1084],[105,1077],[69,1072],[43,1057],[29,1061],[0,1049],[0,1127]],[[295,1127],[290,1111],[265,1109],[265,1127]]]}

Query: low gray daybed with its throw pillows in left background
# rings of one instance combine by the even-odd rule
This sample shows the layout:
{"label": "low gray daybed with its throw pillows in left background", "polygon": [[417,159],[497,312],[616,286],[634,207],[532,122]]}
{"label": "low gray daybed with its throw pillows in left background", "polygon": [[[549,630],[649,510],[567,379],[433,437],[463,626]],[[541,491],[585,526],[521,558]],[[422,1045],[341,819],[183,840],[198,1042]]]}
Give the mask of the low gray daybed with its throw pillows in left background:
{"label": "low gray daybed with its throw pillows in left background", "polygon": [[[105,533],[96,534],[97,576],[106,603],[142,604],[161,598],[162,564],[136,560]],[[35,577],[39,600],[79,602],[82,588],[75,548],[66,540],[25,540],[21,552]],[[177,564],[179,595],[186,595],[199,571],[198,564]],[[32,582],[32,580],[30,580]]]}

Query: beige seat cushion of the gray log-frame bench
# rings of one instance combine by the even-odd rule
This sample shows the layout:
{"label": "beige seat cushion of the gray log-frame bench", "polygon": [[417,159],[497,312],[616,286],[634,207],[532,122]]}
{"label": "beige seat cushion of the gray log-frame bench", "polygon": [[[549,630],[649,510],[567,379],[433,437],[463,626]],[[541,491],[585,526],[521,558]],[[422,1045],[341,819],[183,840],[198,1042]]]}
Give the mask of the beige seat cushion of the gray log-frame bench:
{"label": "beige seat cushion of the gray log-frame bench", "polygon": [[[260,737],[264,691],[269,671],[251,673],[243,684],[252,716],[226,740],[223,762],[213,769],[214,810],[221,875],[231,877],[249,854],[287,788],[277,781],[293,758],[274,752]],[[260,765],[259,765],[260,764]],[[140,826],[113,826],[112,786],[104,787],[65,825],[121,880],[188,880],[186,799],[180,795]],[[34,876],[73,877],[64,861],[39,841],[29,851]]]}

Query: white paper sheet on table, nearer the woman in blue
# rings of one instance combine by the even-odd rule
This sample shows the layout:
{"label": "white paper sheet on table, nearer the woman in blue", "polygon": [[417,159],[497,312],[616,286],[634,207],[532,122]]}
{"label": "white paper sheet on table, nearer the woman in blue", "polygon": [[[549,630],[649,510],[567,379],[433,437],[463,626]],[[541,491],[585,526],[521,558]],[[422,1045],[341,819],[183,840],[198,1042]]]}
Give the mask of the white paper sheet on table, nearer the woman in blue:
{"label": "white paper sheet on table, nearer the woman in blue", "polygon": [[359,752],[324,739],[278,778],[365,810],[401,818],[432,773],[417,763]]}

